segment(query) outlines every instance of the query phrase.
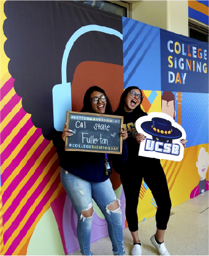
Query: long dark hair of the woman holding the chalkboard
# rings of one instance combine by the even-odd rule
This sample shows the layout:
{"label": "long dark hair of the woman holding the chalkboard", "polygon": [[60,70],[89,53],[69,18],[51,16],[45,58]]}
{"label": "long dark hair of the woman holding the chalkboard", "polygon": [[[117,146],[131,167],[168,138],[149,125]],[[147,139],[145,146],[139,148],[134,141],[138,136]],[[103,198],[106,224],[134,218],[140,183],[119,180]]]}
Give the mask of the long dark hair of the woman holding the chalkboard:
{"label": "long dark hair of the woman holding the chalkboard", "polygon": [[[83,98],[83,108],[82,108],[81,112],[94,113],[94,111],[92,109],[92,106],[91,106],[91,101],[90,101],[90,96],[91,96],[91,93],[93,93],[93,91],[99,91],[100,93],[104,94],[107,97],[105,91],[102,88],[97,87],[96,85],[88,88],[88,90],[86,91],[85,96]],[[113,115],[112,106],[110,104],[110,101],[109,101],[108,97],[107,97],[107,104],[106,104],[105,114]]]}

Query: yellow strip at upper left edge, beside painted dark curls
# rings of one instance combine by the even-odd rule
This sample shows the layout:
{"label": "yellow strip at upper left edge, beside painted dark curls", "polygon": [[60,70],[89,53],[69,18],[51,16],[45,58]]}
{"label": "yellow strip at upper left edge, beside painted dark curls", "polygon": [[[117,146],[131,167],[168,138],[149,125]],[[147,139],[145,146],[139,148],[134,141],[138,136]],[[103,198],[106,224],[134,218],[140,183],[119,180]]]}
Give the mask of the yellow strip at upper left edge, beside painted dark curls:
{"label": "yellow strip at upper left edge, beside painted dark curls", "polygon": [[[1,79],[4,77],[6,73],[8,73],[8,63],[9,63],[9,58],[7,58],[6,54],[4,53],[4,42],[7,40],[6,36],[4,36],[4,31],[3,31],[3,23],[4,20],[6,19],[6,15],[4,14],[4,2],[5,1],[0,1],[0,20],[1,20],[1,31],[0,31],[0,38],[1,38],[1,48],[0,48],[0,53],[1,53]],[[2,87],[2,84],[1,84]]]}

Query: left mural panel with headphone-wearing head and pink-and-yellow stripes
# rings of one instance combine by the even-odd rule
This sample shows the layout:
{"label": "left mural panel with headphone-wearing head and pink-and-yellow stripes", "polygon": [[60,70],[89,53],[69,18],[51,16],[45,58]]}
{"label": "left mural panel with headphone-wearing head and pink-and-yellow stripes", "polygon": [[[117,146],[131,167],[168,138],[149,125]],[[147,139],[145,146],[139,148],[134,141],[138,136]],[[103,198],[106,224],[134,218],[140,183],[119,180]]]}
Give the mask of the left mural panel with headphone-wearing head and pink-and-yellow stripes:
{"label": "left mural panel with headphone-wearing head and pink-and-yellow stripes", "polygon": [[[105,90],[116,109],[123,92],[122,18],[74,1],[6,1],[4,14],[4,52],[10,60],[2,90],[10,99],[1,111],[1,244],[5,255],[29,253],[35,227],[52,209],[63,244],[61,252],[54,250],[69,254],[79,246],[53,145],[66,111],[61,121],[56,111],[66,99],[67,111],[81,111],[93,85]],[[107,235],[102,218],[94,218],[92,241]]]}

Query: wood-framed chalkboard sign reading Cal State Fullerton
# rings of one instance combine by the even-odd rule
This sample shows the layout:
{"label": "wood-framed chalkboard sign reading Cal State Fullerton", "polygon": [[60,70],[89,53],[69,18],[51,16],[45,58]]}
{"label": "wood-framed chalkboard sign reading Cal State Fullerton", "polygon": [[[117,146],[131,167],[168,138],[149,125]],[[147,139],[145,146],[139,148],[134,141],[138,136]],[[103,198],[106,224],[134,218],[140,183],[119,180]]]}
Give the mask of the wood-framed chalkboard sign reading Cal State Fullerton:
{"label": "wood-framed chalkboard sign reading Cal State Fullerton", "polygon": [[122,153],[123,117],[67,111],[65,150]]}

